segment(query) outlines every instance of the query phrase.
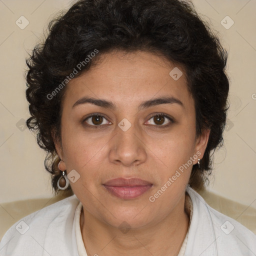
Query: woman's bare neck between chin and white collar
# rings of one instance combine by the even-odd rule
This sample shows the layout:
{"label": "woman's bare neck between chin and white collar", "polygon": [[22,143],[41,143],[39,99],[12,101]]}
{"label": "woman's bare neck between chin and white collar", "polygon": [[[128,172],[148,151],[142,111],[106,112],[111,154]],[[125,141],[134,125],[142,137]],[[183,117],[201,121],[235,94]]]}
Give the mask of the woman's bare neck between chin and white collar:
{"label": "woman's bare neck between chin and white collar", "polygon": [[184,202],[185,195],[171,213],[155,225],[123,232],[103,223],[82,207],[80,228],[87,254],[176,256],[189,224]]}

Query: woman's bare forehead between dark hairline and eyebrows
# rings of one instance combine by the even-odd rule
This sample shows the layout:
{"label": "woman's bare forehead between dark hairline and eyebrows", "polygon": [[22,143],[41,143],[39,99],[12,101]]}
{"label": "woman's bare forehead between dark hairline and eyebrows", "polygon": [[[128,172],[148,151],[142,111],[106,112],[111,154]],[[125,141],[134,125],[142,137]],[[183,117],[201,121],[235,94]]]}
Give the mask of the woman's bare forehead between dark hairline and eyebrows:
{"label": "woman's bare forehead between dark hairline and eyebrows", "polygon": [[184,105],[193,103],[184,69],[161,55],[145,51],[102,54],[95,65],[67,84],[68,104],[82,96],[108,99],[116,105],[162,96],[178,98]]}

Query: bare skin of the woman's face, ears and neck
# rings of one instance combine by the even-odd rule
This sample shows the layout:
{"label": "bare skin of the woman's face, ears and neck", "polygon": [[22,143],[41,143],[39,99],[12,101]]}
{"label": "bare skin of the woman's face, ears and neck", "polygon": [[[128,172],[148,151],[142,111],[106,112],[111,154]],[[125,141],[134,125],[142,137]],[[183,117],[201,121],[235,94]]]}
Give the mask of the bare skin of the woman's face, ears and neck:
{"label": "bare skin of the woman's face, ears and neck", "polygon": [[[183,72],[176,81],[169,75],[175,66]],[[209,130],[195,134],[194,100],[184,70],[150,52],[115,51],[104,53],[66,86],[61,142],[55,141],[55,147],[62,159],[59,168],[80,175],[70,184],[82,203],[80,228],[87,254],[177,255],[189,222],[185,188],[197,159],[154,202],[148,198],[197,151],[202,158],[207,145]],[[83,96],[112,101],[116,109],[92,103],[72,107]],[[175,97],[183,106],[162,103],[138,109],[141,102],[163,96]],[[157,123],[152,115],[159,112],[173,122],[161,116]],[[93,113],[104,118],[84,121]],[[123,118],[131,123],[127,131],[118,126]],[[169,126],[159,128],[164,124]],[[116,177],[141,178],[153,185],[137,198],[121,199],[102,186]],[[121,223],[128,225],[126,233],[118,227]]]}

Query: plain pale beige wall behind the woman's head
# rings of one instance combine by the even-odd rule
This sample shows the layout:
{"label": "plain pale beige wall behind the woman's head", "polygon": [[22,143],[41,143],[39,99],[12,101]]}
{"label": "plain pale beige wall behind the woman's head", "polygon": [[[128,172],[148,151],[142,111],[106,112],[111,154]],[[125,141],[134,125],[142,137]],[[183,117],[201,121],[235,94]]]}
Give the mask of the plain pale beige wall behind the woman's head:
{"label": "plain pale beige wall behind the woman's head", "polygon": [[[43,165],[45,153],[23,126],[29,116],[24,94],[25,57],[42,38],[48,21],[72,2],[0,0],[0,203],[53,195]],[[256,208],[256,1],[193,0],[193,3],[202,18],[218,32],[229,53],[229,125],[224,132],[224,146],[215,153],[207,189]],[[29,21],[24,29],[15,23],[21,15]],[[227,15],[234,21],[229,29],[220,23]],[[225,26],[231,24],[226,18],[222,22]]]}

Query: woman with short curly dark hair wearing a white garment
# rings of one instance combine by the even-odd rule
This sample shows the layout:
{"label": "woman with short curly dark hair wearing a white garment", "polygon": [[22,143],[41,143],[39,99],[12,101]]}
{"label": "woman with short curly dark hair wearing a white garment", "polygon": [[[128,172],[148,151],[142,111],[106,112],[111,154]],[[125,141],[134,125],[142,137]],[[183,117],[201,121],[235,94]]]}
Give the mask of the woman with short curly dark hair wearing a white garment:
{"label": "woman with short curly dark hair wearing a white garment", "polygon": [[2,255],[255,255],[196,192],[226,119],[226,51],[179,0],[81,0],[27,60],[26,97],[56,193]]}

